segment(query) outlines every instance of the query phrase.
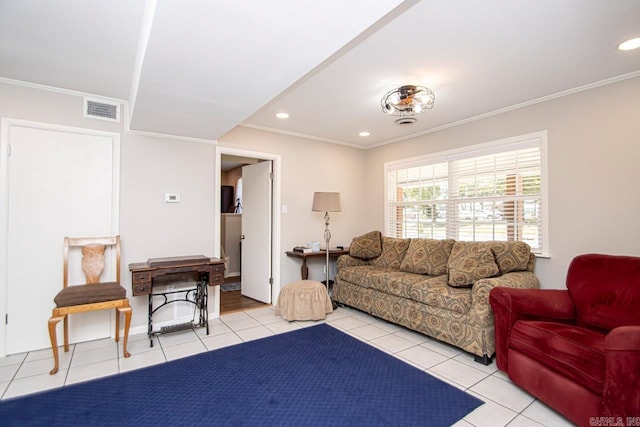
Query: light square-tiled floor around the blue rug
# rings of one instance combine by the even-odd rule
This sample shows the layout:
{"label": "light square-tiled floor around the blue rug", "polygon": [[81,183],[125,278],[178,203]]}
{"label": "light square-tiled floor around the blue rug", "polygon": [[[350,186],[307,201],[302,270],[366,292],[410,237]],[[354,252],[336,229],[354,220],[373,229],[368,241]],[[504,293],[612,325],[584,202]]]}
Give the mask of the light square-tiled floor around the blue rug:
{"label": "light square-tiled floor around the blue rug", "polygon": [[[512,384],[495,362],[483,366],[455,347],[349,308],[338,308],[324,322],[486,402],[456,423],[457,427],[572,425]],[[204,329],[161,335],[152,348],[146,334],[132,335],[127,359],[111,339],[85,342],[71,345],[68,353],[60,348],[56,375],[49,375],[53,367],[49,348],[7,356],[0,358],[0,398],[126,372],[318,323],[287,322],[275,316],[273,307],[247,310],[210,320],[209,335]]]}

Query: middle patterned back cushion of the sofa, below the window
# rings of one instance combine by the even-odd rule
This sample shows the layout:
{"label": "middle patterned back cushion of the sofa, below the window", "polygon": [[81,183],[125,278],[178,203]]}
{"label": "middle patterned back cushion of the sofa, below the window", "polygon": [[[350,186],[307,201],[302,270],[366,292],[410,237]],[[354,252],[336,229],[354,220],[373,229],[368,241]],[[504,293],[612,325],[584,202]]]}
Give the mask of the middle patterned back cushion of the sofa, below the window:
{"label": "middle patterned back cushion of the sofa, below the window", "polygon": [[430,276],[445,274],[454,243],[452,239],[411,239],[400,270]]}

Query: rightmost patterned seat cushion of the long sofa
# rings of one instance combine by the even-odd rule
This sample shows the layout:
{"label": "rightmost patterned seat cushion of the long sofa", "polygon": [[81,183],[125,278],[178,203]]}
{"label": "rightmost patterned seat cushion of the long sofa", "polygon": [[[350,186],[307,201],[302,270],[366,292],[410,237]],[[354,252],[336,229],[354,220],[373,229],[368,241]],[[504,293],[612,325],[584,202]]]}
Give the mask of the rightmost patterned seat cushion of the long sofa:
{"label": "rightmost patterned seat cushion of the long sofa", "polygon": [[471,290],[448,285],[446,274],[415,283],[411,287],[411,299],[431,307],[466,314],[471,308]]}

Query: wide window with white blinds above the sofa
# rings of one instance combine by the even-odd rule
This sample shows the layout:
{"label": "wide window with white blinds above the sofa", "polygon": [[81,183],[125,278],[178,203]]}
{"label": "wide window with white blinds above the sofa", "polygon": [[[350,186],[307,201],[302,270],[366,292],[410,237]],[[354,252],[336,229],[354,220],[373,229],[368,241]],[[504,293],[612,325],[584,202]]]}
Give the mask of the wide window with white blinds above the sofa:
{"label": "wide window with white blinds above the sofa", "polygon": [[543,255],[546,132],[385,164],[385,234],[524,241]]}

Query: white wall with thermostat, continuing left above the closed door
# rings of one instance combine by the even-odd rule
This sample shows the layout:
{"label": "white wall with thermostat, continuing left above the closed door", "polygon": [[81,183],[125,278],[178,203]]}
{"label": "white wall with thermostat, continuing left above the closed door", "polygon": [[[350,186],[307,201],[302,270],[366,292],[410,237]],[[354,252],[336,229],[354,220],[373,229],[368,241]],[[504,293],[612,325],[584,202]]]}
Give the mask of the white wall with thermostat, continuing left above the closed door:
{"label": "white wall with thermostat, continuing left above the closed door", "polygon": [[[213,254],[214,145],[125,133],[123,122],[84,118],[82,112],[82,96],[0,83],[2,117],[121,134],[121,274],[133,308],[132,327],[146,331],[147,298],[132,297],[128,265],[153,257]],[[180,193],[181,203],[165,203],[166,192]],[[168,311],[158,320],[173,314]]]}

